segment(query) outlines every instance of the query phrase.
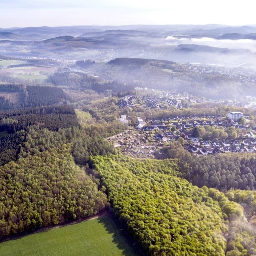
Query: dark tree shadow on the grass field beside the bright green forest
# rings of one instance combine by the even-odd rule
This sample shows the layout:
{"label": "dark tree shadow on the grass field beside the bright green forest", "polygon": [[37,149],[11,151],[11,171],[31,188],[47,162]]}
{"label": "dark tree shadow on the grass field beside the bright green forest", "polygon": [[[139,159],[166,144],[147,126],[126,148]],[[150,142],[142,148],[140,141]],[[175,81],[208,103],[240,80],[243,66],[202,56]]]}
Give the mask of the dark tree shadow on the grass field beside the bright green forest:
{"label": "dark tree shadow on the grass field beside the bright green forest", "polygon": [[107,232],[112,234],[112,242],[123,251],[125,256],[145,256],[146,254],[141,250],[139,245],[128,234],[122,223],[115,218],[110,212],[98,218],[98,223],[104,225]]}

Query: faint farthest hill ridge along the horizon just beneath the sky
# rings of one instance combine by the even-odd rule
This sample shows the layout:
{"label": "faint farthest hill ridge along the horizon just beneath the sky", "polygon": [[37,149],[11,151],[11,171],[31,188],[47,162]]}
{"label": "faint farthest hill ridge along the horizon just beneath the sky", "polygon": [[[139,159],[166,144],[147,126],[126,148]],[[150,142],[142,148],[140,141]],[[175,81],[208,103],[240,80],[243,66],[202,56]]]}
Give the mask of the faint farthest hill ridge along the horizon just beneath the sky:
{"label": "faint farthest hill ridge along the horizon just beneath the sky", "polygon": [[[0,32],[10,32],[26,37],[47,38],[71,35],[71,36],[92,36],[109,33],[133,35],[158,32],[163,35],[200,35],[217,38],[224,34],[241,34],[245,37],[256,33],[255,26],[225,26],[225,25],[124,25],[124,26],[71,26],[71,27],[25,27],[25,28],[0,28]],[[239,35],[237,35],[239,36]],[[47,39],[45,38],[45,39]],[[236,38],[237,39],[237,38]]]}

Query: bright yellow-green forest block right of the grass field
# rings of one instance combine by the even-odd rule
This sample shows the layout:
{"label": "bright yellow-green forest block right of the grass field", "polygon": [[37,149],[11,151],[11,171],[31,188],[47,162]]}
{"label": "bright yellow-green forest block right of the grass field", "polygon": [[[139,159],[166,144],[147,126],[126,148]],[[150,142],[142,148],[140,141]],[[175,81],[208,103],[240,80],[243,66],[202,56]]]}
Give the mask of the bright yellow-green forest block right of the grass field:
{"label": "bright yellow-green forest block right of the grass field", "polygon": [[96,156],[90,165],[114,215],[147,255],[255,252],[255,233],[242,228],[247,223],[243,208],[216,189],[198,188],[176,177],[176,160]]}

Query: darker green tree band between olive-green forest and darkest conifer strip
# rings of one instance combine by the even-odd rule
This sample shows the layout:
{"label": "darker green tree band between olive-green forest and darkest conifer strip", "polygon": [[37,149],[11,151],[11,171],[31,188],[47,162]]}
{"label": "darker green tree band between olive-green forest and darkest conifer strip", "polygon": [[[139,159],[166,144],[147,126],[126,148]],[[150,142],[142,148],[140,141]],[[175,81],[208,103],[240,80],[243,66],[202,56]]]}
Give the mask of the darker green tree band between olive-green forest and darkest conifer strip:
{"label": "darker green tree band between olive-green forest and darkest conifer strip", "polygon": [[[92,155],[114,154],[115,149],[107,142],[95,128],[81,128],[79,126],[49,131],[32,126],[28,129],[22,150],[32,155],[44,150],[70,145],[70,153],[77,164],[85,165]],[[22,152],[21,152],[22,155]],[[24,155],[22,155],[24,156]]]}

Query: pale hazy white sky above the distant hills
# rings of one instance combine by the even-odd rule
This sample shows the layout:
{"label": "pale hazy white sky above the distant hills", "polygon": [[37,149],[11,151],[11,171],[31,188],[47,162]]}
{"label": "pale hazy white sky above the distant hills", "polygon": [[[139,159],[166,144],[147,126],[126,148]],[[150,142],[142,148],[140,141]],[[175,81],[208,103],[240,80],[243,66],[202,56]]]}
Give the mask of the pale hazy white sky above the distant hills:
{"label": "pale hazy white sky above the distant hills", "polygon": [[0,10],[0,28],[256,24],[252,0],[0,0]]}

